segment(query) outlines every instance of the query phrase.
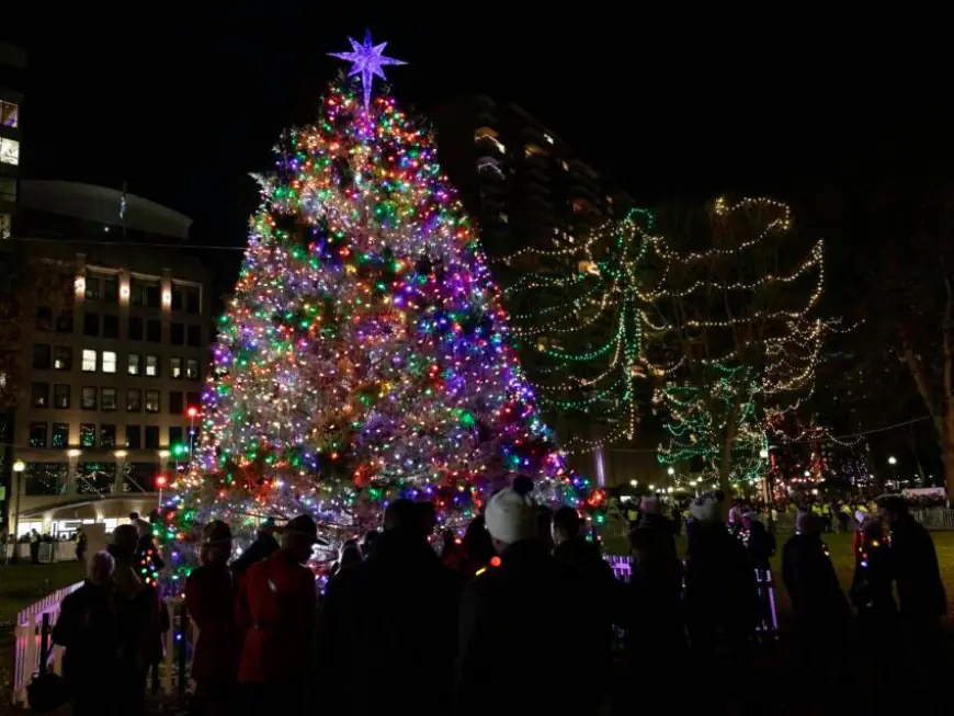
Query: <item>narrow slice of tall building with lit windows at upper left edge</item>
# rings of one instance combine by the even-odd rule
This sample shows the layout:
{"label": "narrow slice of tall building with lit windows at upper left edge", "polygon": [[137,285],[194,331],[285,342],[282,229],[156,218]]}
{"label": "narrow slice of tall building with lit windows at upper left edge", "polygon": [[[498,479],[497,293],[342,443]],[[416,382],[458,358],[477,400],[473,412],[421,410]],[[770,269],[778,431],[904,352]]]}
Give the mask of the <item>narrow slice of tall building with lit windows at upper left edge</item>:
{"label": "narrow slice of tall building with lit windows at upper left edge", "polygon": [[20,177],[20,110],[26,53],[0,43],[0,239],[10,236]]}

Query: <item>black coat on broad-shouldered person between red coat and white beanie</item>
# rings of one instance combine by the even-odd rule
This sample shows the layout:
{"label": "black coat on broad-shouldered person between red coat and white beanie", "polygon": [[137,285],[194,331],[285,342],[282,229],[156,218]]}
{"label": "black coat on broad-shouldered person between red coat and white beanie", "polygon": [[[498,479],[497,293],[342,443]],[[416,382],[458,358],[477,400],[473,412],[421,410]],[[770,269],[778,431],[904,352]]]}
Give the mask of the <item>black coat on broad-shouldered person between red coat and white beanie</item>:
{"label": "black coat on broad-shouldered person between red coat and white beanie", "polygon": [[310,685],[329,716],[446,716],[461,578],[414,531],[386,530],[328,584]]}

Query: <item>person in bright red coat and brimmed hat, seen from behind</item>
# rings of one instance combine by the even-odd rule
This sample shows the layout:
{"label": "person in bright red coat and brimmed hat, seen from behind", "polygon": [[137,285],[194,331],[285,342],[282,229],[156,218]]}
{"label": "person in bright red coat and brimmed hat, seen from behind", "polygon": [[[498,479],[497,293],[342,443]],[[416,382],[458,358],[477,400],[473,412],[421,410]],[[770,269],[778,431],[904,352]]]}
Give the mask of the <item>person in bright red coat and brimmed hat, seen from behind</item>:
{"label": "person in bright red coat and brimmed hat, seen from behind", "polygon": [[288,521],[282,548],[252,565],[242,581],[236,622],[246,632],[239,682],[249,713],[298,712],[308,673],[317,595],[304,566],[318,542],[318,525],[302,514]]}

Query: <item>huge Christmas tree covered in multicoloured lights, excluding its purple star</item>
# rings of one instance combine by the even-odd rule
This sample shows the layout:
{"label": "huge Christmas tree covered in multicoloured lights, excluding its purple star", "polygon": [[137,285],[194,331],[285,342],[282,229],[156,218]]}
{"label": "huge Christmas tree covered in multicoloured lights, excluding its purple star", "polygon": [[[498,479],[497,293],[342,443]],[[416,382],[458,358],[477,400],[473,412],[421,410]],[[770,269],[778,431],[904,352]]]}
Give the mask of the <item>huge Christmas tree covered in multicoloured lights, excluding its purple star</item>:
{"label": "huge Christmas tree covered in multicoloured lights, excluding its purple star", "polygon": [[399,496],[462,525],[515,474],[544,500],[592,502],[537,413],[432,134],[341,81],[277,155],[166,537],[307,512],[336,542]]}

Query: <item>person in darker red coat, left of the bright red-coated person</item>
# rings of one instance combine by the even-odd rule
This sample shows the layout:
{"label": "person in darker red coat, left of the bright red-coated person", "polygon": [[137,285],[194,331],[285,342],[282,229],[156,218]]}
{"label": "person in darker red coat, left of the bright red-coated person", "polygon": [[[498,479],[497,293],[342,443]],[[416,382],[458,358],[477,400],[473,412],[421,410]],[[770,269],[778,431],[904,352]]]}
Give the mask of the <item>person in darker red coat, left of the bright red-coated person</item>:
{"label": "person in darker red coat, left of the bright red-coated person", "polygon": [[231,714],[240,635],[235,624],[235,580],[228,567],[231,530],[214,520],[202,530],[201,566],[185,580],[185,606],[198,627],[192,678],[203,714]]}

